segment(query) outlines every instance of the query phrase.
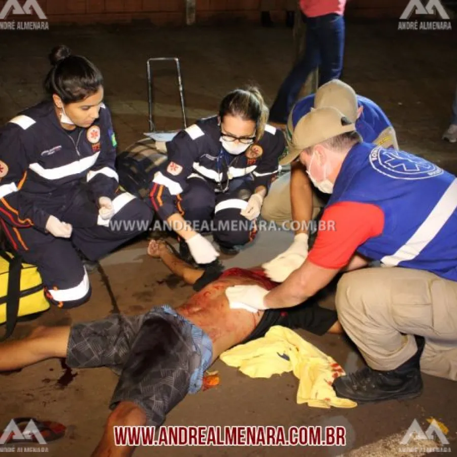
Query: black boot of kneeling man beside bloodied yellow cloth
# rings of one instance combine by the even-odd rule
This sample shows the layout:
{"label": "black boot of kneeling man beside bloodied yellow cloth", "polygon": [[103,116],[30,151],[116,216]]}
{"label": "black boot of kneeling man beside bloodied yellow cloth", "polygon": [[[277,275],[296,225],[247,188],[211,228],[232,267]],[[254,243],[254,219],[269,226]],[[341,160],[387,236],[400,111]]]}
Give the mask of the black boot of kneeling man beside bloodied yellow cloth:
{"label": "black boot of kneeling man beside bloodied yellow cloth", "polygon": [[416,342],[417,352],[395,370],[378,371],[365,367],[335,379],[333,388],[337,397],[360,404],[418,397],[422,393],[419,361],[425,342],[417,338]]}

